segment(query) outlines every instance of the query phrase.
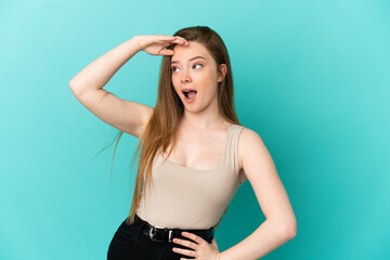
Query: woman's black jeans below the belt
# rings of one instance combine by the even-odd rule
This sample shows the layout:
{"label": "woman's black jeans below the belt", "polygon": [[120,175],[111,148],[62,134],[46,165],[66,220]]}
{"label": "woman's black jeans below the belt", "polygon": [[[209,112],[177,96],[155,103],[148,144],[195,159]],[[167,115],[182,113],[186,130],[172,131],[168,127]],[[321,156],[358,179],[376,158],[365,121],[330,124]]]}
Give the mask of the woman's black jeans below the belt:
{"label": "woman's black jeans below the belt", "polygon": [[[139,217],[138,217],[139,218]],[[140,218],[139,218],[140,219]],[[154,242],[141,232],[145,225],[144,220],[135,221],[128,225],[126,219],[115,232],[107,250],[107,260],[180,260],[180,258],[194,259],[172,251],[173,247],[193,250],[192,248],[179,245],[177,243],[161,243]],[[181,230],[195,233],[200,230]],[[209,244],[212,237],[203,237]],[[191,240],[190,238],[180,235],[178,238]],[[193,240],[191,240],[193,242]]]}

